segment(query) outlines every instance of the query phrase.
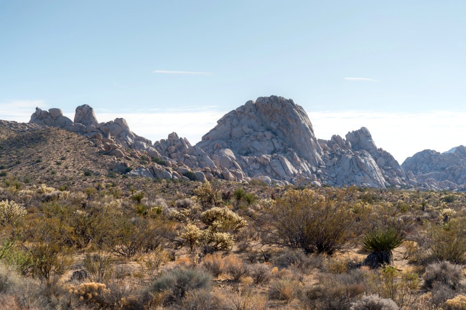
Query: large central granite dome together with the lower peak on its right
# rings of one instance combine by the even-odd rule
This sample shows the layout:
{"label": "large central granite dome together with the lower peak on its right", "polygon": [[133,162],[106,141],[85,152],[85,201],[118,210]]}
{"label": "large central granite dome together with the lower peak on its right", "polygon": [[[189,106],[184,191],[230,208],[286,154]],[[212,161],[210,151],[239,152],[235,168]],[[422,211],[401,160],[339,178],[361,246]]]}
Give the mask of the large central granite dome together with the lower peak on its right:
{"label": "large central granite dome together with the lower peak on its right", "polygon": [[365,127],[349,132],[346,140],[317,140],[302,107],[282,97],[246,102],[223,116],[197,146],[225,179],[412,186],[399,163],[376,147]]}

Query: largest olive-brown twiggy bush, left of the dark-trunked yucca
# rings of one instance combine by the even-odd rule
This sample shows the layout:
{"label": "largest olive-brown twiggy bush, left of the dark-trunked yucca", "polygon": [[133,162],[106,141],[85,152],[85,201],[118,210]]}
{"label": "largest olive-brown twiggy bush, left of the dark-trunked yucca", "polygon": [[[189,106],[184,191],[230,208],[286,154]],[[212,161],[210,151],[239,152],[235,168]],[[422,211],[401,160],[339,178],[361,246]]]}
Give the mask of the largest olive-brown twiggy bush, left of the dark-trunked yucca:
{"label": "largest olive-brown twiggy bush, left of the dark-trunked yucca", "polygon": [[309,189],[286,191],[282,198],[265,204],[253,219],[266,244],[306,254],[331,255],[354,240],[356,217],[344,199],[325,198]]}

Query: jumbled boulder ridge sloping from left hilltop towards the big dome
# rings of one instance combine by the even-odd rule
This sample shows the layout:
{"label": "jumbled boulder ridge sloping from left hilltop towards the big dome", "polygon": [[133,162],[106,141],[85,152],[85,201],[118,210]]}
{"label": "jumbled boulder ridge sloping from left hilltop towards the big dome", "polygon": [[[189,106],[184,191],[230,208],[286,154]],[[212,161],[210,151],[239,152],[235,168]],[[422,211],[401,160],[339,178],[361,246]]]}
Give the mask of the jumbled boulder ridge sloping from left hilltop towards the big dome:
{"label": "jumbled boulder ridge sloping from left hilltop towards the big dome", "polygon": [[[187,175],[200,181],[221,175],[221,171],[216,169],[215,163],[202,149],[193,147],[187,139],[179,138],[175,132],[166,140],[152,144],[149,139],[131,131],[124,118],[98,123],[94,109],[87,104],[76,108],[74,122],[64,116],[60,109],[42,111],[36,108],[29,123],[58,127],[88,136],[102,153],[116,158],[115,164],[110,167],[114,172],[159,179],[187,180]],[[146,163],[131,170],[125,163],[118,161],[121,159],[137,159]]]}

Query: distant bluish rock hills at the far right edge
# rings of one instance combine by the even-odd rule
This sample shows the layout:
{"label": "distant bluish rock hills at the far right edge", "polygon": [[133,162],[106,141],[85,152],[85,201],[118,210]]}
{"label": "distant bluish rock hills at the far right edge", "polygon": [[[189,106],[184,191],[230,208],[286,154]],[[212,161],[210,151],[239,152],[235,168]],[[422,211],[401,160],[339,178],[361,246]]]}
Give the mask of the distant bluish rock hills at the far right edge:
{"label": "distant bluish rock hills at the far right edge", "polygon": [[426,189],[466,190],[466,147],[445,153],[425,149],[408,157],[401,167]]}

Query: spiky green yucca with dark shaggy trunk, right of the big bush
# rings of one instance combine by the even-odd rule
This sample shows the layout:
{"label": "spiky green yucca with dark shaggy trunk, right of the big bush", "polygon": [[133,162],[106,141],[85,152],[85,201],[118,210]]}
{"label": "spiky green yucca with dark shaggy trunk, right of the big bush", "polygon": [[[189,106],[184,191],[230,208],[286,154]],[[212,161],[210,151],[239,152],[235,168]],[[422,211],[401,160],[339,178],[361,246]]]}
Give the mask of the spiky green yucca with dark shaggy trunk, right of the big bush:
{"label": "spiky green yucca with dark shaggy trunk, right of the big bush", "polygon": [[393,250],[404,241],[404,233],[394,227],[375,228],[364,236],[363,247],[371,251],[363,265],[378,268],[393,261]]}

